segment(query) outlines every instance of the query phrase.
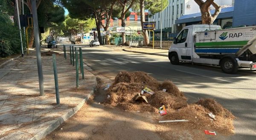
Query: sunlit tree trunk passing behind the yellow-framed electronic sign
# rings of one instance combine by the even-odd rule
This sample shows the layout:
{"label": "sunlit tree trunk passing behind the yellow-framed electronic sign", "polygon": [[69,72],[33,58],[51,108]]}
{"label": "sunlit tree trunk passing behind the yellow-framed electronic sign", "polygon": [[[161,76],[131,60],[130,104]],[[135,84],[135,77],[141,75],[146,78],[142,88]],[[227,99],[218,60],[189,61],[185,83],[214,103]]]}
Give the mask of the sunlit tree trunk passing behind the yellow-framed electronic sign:
{"label": "sunlit tree trunk passing behind the yellow-framed electronic sign", "polygon": [[[145,2],[145,0],[140,0],[140,22],[141,22],[141,27],[143,27],[143,22],[145,22],[144,2]],[[143,30],[143,38],[144,38],[144,45],[148,46],[149,45],[149,38],[148,38],[148,31],[147,30]]]}

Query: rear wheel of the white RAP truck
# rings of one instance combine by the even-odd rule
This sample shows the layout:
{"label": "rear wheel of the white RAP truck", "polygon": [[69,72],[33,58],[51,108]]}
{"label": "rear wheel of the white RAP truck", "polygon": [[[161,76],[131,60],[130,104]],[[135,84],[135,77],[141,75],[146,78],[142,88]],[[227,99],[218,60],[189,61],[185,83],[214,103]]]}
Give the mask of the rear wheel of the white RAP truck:
{"label": "rear wheel of the white RAP truck", "polygon": [[224,73],[234,74],[238,70],[238,63],[235,58],[226,57],[221,60],[221,70]]}

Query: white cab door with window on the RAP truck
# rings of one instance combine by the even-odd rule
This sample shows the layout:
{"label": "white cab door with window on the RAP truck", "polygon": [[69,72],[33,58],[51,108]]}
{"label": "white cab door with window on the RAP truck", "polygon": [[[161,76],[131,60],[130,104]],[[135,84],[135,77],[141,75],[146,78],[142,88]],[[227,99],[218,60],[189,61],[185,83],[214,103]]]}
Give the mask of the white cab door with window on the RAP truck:
{"label": "white cab door with window on the RAP truck", "polygon": [[180,34],[177,36],[177,48],[179,48],[179,59],[180,60],[191,60],[191,54],[188,52],[188,48],[190,48],[189,45],[189,28],[183,29],[183,31],[180,32]]}

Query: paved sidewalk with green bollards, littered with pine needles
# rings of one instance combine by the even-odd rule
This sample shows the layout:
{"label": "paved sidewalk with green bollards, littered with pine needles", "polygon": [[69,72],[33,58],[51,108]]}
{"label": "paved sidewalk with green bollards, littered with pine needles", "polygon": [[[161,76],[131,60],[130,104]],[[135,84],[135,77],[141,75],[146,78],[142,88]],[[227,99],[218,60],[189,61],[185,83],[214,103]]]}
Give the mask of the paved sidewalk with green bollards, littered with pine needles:
{"label": "paved sidewalk with green bollards, littered with pine needles", "polygon": [[76,68],[64,59],[61,49],[56,55],[60,105],[56,105],[52,56],[43,56],[45,96],[39,96],[35,50],[0,67],[0,140],[41,139],[74,115],[93,94],[96,77],[84,69],[79,73],[76,89]]}

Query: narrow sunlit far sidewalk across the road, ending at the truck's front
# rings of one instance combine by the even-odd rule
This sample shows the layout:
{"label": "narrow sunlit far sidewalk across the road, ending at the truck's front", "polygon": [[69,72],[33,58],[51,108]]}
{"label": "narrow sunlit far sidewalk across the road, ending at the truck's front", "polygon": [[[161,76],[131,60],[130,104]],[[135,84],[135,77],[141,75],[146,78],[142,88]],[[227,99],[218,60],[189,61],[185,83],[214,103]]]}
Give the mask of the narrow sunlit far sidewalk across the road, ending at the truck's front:
{"label": "narrow sunlit far sidewalk across the road, ending at the truck's front", "polygon": [[103,47],[111,47],[111,48],[120,48],[124,51],[134,52],[134,53],[144,53],[150,55],[157,55],[157,56],[167,56],[169,50],[167,49],[159,49],[159,48],[148,48],[148,47],[128,47],[128,46],[115,46],[115,45],[102,45]]}

